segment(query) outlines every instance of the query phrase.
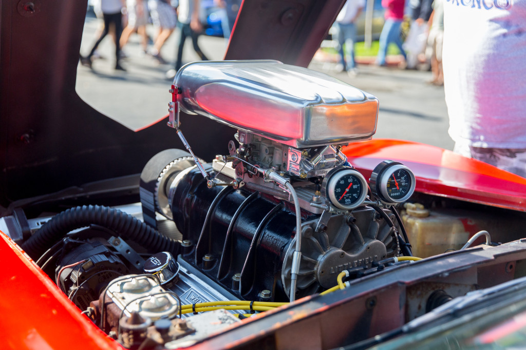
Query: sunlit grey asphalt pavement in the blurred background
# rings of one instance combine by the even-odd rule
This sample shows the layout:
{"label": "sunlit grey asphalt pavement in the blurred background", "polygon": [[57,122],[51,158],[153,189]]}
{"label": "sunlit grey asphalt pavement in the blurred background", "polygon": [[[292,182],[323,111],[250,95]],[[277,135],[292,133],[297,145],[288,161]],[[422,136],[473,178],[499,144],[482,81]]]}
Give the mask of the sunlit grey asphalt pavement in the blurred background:
{"label": "sunlit grey asphalt pavement in the blurred background", "polygon": [[[87,16],[84,25],[81,54],[87,55],[95,42],[95,32],[100,25],[93,16]],[[154,37],[155,29],[147,32]],[[139,37],[132,35],[123,48],[127,58],[123,66],[127,71],[115,71],[115,48],[109,36],[103,40],[98,52],[102,58],[94,60],[93,69],[79,65],[76,90],[88,104],[130,129],[139,129],[167,114],[171,79],[166,72],[173,68],[179,33],[167,40],[161,55],[168,64],[160,64],[146,55],[139,45]],[[224,57],[226,40],[201,35],[199,45],[213,60]],[[397,57],[390,57],[396,61]],[[185,63],[198,60],[187,39],[183,54]],[[378,127],[373,138],[396,138],[452,149],[443,87],[430,85],[429,71],[403,70],[395,67],[376,67],[368,59],[360,58],[359,73],[349,77],[337,71],[331,58],[315,57],[309,68],[334,76],[378,97],[380,112]]]}

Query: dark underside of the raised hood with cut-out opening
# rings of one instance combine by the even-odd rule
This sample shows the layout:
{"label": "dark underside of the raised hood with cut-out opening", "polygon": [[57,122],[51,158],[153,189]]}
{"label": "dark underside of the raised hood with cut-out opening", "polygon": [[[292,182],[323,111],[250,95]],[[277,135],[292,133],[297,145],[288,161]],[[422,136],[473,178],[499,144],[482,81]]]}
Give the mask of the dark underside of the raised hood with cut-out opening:
{"label": "dark underside of the raised hood with cut-out opening", "polygon": [[[241,7],[226,59],[272,58],[306,66],[342,0],[250,1]],[[0,205],[140,173],[160,150],[182,148],[161,119],[134,132],[75,91],[86,1],[5,0],[0,8]],[[169,84],[167,84],[167,89]],[[167,94],[168,96],[168,94]],[[232,129],[183,115],[197,156],[210,160]],[[119,161],[116,161],[116,160]],[[101,186],[99,191],[104,191]]]}

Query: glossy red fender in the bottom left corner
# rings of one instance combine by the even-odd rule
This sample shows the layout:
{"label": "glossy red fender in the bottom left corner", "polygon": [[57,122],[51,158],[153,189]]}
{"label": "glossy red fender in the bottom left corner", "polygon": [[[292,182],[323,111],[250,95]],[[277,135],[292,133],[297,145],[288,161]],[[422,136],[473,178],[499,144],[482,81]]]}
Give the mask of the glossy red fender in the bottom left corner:
{"label": "glossy red fender in the bottom left corner", "polygon": [[0,231],[2,348],[124,349],[90,321],[53,281]]}

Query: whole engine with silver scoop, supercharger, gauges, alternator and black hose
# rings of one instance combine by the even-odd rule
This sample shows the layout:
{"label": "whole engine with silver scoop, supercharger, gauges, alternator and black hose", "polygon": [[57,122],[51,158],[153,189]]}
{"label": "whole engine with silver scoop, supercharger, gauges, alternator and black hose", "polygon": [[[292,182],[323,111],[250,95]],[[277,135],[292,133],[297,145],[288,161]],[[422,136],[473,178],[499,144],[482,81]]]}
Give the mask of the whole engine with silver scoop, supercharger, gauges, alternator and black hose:
{"label": "whole engine with silver scoop, supercharger, gauges, alternator and black hose", "polygon": [[[23,244],[125,347],[176,348],[247,316],[237,310],[270,310],[411,256],[395,207],[413,173],[386,160],[366,179],[341,149],[375,133],[374,96],[274,60],[191,63],[170,92],[168,126],[186,150],[145,165],[141,220],[72,208]],[[225,151],[196,157],[181,110],[231,126]]]}

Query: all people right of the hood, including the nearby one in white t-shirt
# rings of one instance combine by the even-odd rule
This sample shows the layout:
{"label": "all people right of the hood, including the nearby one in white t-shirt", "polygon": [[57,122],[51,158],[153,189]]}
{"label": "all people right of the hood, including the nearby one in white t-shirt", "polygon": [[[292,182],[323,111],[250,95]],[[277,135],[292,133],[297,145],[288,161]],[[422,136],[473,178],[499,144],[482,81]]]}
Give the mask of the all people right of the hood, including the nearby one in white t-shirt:
{"label": "all people right of the hood, including the nearby one in white t-shirt", "polygon": [[[526,0],[409,0],[404,43],[405,0],[381,3],[385,23],[376,64],[387,65],[391,43],[401,68],[429,61],[429,83],[444,86],[453,150],[526,177]],[[348,27],[363,6],[363,0],[348,0],[336,19],[340,63],[350,76],[357,74],[356,30]]]}

